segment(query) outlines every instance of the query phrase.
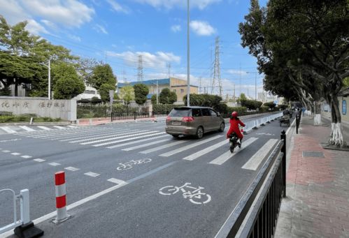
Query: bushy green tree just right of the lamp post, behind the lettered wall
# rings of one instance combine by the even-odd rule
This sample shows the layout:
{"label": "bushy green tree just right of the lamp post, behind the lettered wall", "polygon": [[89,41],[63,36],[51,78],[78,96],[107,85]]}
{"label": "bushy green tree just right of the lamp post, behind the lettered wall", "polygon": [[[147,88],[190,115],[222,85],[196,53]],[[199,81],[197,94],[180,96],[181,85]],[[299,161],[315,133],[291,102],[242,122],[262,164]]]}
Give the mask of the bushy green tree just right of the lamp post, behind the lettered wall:
{"label": "bushy green tree just right of the lamp post, behind the lettered wall", "polygon": [[55,68],[55,98],[56,99],[71,99],[85,91],[85,84],[80,79],[73,66],[68,64],[59,64]]}

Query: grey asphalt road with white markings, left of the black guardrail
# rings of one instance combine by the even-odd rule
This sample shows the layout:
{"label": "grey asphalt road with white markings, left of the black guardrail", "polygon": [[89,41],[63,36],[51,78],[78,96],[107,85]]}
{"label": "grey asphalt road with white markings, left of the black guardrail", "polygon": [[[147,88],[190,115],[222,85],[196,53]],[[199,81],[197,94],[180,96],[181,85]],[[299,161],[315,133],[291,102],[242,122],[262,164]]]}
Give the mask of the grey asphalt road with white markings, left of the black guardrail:
{"label": "grey asphalt road with white markings, left of the black guardrail", "polygon": [[[250,131],[234,154],[227,127],[201,140],[174,139],[164,122],[3,134],[0,189],[29,189],[31,220],[45,237],[215,237],[283,129],[274,121]],[[72,217],[55,225],[42,217],[55,211],[60,170]],[[1,193],[0,227],[12,212]]]}

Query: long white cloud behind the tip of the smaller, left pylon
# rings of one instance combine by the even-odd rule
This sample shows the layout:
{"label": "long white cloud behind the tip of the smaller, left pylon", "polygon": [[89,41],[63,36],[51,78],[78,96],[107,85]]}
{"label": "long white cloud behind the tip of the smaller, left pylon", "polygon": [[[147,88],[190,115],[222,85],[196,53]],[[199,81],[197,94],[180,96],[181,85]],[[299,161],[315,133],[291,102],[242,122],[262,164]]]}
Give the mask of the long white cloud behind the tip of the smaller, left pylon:
{"label": "long white cloud behind the tip of the smaller, left pylon", "polygon": [[138,56],[142,55],[143,67],[145,68],[166,68],[166,63],[175,62],[180,63],[180,57],[169,52],[156,52],[151,54],[149,52],[107,52],[108,56],[117,57],[124,60],[128,66],[138,65]]}

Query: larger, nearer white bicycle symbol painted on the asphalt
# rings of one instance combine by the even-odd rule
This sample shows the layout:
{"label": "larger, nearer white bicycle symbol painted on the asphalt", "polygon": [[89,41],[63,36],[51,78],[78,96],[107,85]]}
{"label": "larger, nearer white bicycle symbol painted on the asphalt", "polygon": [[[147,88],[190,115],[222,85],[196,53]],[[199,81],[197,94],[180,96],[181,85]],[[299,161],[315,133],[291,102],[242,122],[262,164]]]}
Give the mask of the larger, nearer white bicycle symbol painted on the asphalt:
{"label": "larger, nearer white bicycle symbol painted on the asphalt", "polygon": [[191,183],[185,183],[183,186],[164,186],[159,189],[159,193],[162,195],[173,195],[182,192],[183,198],[189,198],[190,202],[194,204],[205,204],[211,201],[211,195],[202,193],[201,190],[204,187],[192,187]]}

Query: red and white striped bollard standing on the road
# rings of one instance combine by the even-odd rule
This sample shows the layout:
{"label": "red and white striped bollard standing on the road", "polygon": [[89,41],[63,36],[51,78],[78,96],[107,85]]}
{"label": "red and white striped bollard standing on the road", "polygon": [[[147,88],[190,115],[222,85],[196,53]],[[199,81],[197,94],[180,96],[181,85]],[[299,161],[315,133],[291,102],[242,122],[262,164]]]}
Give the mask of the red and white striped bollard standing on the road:
{"label": "red and white striped bollard standing on the road", "polygon": [[55,188],[57,217],[54,222],[61,223],[69,218],[69,215],[66,213],[66,179],[64,171],[55,173]]}

